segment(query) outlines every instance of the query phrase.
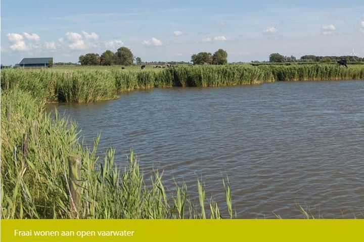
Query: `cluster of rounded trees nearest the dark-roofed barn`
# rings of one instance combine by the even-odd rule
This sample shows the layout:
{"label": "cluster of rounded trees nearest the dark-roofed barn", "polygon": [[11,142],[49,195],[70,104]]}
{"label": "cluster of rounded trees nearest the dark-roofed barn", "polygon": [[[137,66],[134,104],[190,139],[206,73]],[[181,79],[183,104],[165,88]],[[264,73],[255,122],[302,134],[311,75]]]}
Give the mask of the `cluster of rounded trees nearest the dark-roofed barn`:
{"label": "cluster of rounded trees nearest the dark-roofed barn", "polygon": [[82,66],[130,66],[134,64],[134,61],[136,65],[142,64],[142,59],[140,57],[135,58],[131,50],[126,47],[118,48],[116,53],[111,50],[106,50],[101,56],[98,53],[87,53],[78,58],[78,62]]}

